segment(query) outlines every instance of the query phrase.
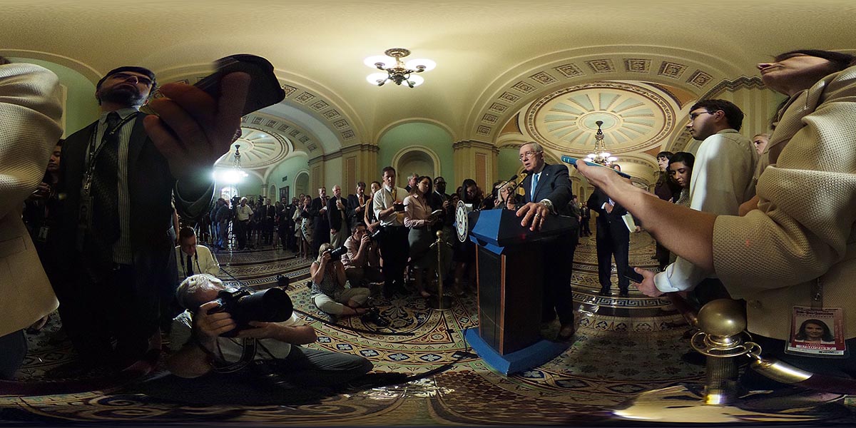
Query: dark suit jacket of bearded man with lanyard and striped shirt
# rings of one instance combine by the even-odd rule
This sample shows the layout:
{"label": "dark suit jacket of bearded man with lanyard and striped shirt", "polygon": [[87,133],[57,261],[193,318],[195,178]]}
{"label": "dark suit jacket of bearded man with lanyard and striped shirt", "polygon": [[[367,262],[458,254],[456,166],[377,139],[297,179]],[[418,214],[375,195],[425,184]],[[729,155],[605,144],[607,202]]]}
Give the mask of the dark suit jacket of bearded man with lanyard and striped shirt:
{"label": "dark suit jacket of bearded man with lanyard and striped shirt", "polygon": [[[130,199],[130,216],[128,218],[128,238],[132,252],[131,264],[134,277],[128,278],[128,285],[134,289],[134,301],[128,302],[128,307],[113,310],[134,311],[134,329],[147,336],[158,328],[158,306],[162,299],[169,299],[175,293],[177,272],[175,264],[175,243],[169,236],[172,224],[172,194],[175,188],[175,178],[169,172],[169,164],[158,148],[154,146],[143,128],[142,118],[145,114],[138,113],[134,128],[131,129],[128,140],[128,196]],[[80,183],[86,173],[86,152],[92,134],[97,131],[98,122],[71,134],[62,146],[62,163],[60,163],[59,192],[65,193],[65,205],[62,210],[62,220],[59,226],[60,250],[66,254],[61,259],[62,270],[68,283],[61,287],[75,287],[74,294],[88,295],[94,290],[80,290],[86,287],[89,272],[108,272],[111,265],[104,265],[106,260],[96,260],[89,253],[78,252],[78,218],[80,215]],[[207,195],[211,201],[211,194]],[[203,197],[205,198],[205,197]],[[207,210],[205,204],[194,205],[199,212],[190,212],[191,203],[182,203],[175,199],[175,209],[181,216],[196,217]],[[221,208],[223,209],[223,208]],[[94,225],[93,227],[98,227]],[[75,256],[76,255],[76,256]],[[100,263],[99,263],[100,262]],[[82,282],[81,282],[82,281]],[[87,294],[88,293],[88,294]],[[74,312],[74,322],[71,329],[86,328],[87,304],[91,302],[72,298],[62,303],[67,311]],[[83,317],[81,317],[81,314]],[[64,317],[64,316],[63,316]],[[70,318],[70,317],[69,317]],[[104,322],[104,320],[98,320]],[[88,321],[92,322],[92,320]],[[71,324],[71,323],[69,323]],[[136,339],[140,339],[137,337]]]}

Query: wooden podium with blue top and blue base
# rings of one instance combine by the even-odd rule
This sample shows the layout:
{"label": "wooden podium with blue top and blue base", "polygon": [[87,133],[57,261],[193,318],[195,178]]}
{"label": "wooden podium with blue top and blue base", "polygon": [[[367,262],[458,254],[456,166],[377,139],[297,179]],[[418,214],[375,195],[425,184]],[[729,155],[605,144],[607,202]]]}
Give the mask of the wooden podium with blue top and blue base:
{"label": "wooden podium with blue top and blue base", "polygon": [[469,239],[476,243],[479,327],[467,342],[485,362],[505,374],[540,366],[562,354],[567,344],[540,336],[544,269],[542,242],[574,231],[570,217],[551,216],[544,229],[520,226],[514,211],[469,214]]}

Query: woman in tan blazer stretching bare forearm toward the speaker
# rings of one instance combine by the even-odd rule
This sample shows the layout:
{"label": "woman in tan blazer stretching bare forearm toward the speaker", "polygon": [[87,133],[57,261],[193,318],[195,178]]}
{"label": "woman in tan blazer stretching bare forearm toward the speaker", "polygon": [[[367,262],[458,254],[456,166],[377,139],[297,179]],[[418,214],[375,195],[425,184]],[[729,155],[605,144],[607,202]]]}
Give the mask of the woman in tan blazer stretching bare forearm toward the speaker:
{"label": "woman in tan blazer stretching bare forearm toward the speaker", "polygon": [[[757,209],[745,217],[687,210],[649,197],[609,170],[578,165],[590,182],[639,217],[657,241],[715,270],[732,296],[746,300],[746,330],[764,348],[763,356],[839,377],[856,377],[854,65],[853,56],[814,50],[758,64],[764,84],[788,100],[764,149],[767,166],[758,178]],[[637,271],[645,276],[640,290],[662,294],[651,272]],[[840,308],[836,331],[849,357],[784,354],[799,320],[792,315],[794,306]]]}

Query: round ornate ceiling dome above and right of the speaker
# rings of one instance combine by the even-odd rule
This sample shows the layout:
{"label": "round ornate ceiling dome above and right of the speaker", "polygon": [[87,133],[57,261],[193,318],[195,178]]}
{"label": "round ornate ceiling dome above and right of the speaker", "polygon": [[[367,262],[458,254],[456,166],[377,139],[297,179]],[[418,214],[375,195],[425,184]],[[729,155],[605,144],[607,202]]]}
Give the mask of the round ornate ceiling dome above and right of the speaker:
{"label": "round ornate ceiling dome above and right of the speaker", "polygon": [[528,134],[543,146],[585,156],[594,147],[595,122],[612,153],[644,152],[675,128],[674,100],[653,86],[601,81],[569,86],[538,98],[525,114]]}

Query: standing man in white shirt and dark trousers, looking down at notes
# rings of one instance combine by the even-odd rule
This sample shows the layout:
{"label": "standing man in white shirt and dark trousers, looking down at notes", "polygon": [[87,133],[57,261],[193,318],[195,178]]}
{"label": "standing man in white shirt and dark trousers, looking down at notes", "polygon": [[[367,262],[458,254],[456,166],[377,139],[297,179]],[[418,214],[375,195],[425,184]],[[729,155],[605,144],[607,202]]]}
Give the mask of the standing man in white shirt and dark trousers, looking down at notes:
{"label": "standing man in white shirt and dark trousers, looking down at notes", "polygon": [[395,168],[383,168],[383,187],[372,199],[372,210],[383,229],[377,243],[383,259],[383,294],[387,297],[405,292],[404,269],[410,253],[408,231],[404,227],[406,196],[407,190],[395,186]]}

